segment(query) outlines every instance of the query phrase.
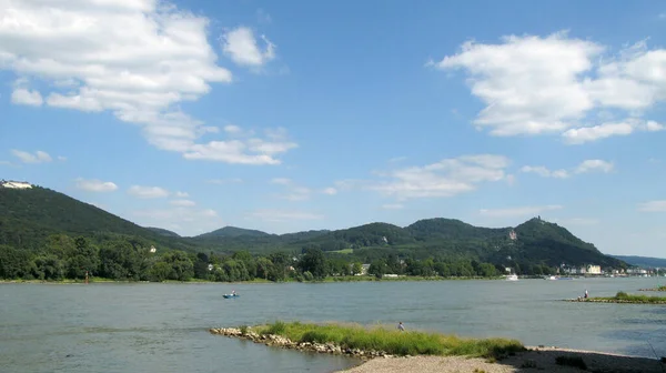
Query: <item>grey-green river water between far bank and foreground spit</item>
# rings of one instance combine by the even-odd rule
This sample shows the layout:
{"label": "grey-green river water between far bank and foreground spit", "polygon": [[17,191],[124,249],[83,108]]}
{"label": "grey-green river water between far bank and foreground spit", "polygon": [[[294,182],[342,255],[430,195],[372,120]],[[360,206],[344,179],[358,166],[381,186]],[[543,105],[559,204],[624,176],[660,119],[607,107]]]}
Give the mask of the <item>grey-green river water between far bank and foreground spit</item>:
{"label": "grey-green river water between far bank and foreground spit", "polygon": [[[212,335],[274,320],[405,323],[526,345],[666,355],[666,306],[562,302],[660,278],[325,284],[2,284],[0,372],[332,372],[355,364]],[[235,289],[241,298],[221,295]],[[647,293],[646,293],[647,294]],[[652,346],[650,346],[652,345]],[[653,352],[654,349],[654,352]]]}

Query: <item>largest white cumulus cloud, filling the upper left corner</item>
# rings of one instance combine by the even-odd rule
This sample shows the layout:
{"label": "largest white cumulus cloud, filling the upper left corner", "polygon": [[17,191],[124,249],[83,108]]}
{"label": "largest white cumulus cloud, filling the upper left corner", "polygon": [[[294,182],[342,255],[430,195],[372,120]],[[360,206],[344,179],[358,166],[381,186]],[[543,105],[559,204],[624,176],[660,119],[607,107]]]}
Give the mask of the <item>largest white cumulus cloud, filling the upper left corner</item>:
{"label": "largest white cumulus cloud, filling the upper left corner", "polygon": [[[140,125],[150,144],[191,160],[279,164],[281,151],[263,149],[294,148],[266,138],[198,142],[218,129],[179,104],[232,81],[216,63],[204,17],[158,0],[0,0],[0,69],[22,77],[16,103],[110,111]],[[40,92],[26,77],[48,88]]]}

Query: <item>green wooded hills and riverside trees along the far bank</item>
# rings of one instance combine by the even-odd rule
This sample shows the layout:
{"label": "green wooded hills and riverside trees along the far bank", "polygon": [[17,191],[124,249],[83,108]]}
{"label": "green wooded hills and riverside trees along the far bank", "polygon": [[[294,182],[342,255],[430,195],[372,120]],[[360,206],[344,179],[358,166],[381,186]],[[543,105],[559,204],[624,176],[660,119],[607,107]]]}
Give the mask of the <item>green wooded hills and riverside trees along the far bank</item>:
{"label": "green wooded hills and riverside trees along the far bank", "polygon": [[[181,238],[163,229],[139,226],[49,189],[0,188],[2,278],[80,278],[83,268],[104,278],[158,281],[279,281],[289,275],[307,280],[359,273],[361,263],[371,264],[370,272],[376,276],[492,276],[503,274],[507,266],[518,274],[539,275],[553,273],[563,263],[626,268],[566,229],[538,218],[515,228],[517,240],[509,232],[512,228],[427,219],[405,228],[371,223],[280,235],[225,226]],[[158,253],[149,253],[152,245]],[[210,271],[209,264],[213,265]],[[285,270],[291,266],[293,271]]]}

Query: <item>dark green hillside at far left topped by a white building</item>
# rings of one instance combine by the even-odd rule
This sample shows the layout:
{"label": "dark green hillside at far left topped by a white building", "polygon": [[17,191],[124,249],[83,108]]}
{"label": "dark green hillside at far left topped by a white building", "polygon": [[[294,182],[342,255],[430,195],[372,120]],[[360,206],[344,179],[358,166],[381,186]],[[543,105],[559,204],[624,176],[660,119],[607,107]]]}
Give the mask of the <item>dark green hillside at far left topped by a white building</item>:
{"label": "dark green hillside at far left topped by a white building", "polygon": [[56,233],[88,236],[114,233],[140,236],[172,248],[191,248],[191,244],[174,241],[50,189],[0,188],[0,244],[34,249]]}

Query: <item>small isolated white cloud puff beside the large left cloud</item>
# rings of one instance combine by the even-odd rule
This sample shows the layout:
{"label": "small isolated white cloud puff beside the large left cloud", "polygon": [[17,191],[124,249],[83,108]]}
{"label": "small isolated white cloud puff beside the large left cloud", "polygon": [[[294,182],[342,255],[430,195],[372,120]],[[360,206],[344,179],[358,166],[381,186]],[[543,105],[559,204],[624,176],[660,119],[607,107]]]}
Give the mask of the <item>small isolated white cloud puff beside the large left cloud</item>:
{"label": "small isolated white cloud puff beside the large left cloud", "polygon": [[263,50],[252,29],[239,27],[222,36],[222,50],[236,64],[261,67],[275,58],[275,44],[263,34],[260,38],[265,43]]}

